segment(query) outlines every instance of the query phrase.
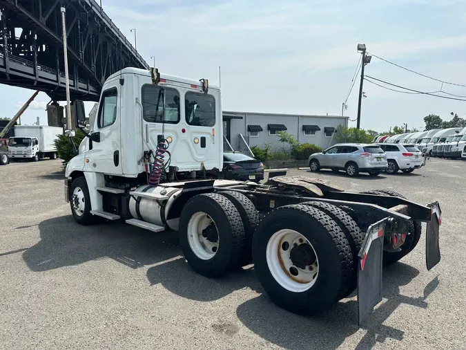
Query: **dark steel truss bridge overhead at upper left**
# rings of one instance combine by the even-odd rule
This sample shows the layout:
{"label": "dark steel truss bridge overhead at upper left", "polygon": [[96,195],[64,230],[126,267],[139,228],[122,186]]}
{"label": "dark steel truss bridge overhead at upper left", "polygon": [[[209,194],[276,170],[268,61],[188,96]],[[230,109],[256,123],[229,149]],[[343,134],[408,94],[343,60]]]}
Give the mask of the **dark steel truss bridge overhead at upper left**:
{"label": "dark steel truss bridge overhead at upper left", "polygon": [[0,83],[66,100],[61,6],[71,100],[98,101],[108,76],[148,64],[95,0],[0,0]]}

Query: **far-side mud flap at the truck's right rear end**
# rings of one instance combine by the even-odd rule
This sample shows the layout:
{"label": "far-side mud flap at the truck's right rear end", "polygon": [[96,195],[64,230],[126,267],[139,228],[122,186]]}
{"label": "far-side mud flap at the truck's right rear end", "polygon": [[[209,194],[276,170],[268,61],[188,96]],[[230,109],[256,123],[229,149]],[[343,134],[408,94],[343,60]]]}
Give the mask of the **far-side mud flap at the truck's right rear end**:
{"label": "far-side mud flap at the truck's right rear end", "polygon": [[440,205],[438,202],[427,205],[431,208],[431,219],[427,223],[425,233],[425,264],[427,270],[430,270],[440,261],[439,231],[442,224]]}

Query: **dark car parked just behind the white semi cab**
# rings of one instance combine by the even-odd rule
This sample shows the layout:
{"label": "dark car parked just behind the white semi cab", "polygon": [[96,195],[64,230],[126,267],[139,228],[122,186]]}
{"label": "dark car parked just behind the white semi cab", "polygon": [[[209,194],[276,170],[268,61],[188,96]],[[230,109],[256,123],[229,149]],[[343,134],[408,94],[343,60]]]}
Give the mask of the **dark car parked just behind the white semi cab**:
{"label": "dark car parked just behind the white semi cab", "polygon": [[264,179],[264,165],[260,160],[242,153],[223,154],[223,176],[227,180],[260,181]]}

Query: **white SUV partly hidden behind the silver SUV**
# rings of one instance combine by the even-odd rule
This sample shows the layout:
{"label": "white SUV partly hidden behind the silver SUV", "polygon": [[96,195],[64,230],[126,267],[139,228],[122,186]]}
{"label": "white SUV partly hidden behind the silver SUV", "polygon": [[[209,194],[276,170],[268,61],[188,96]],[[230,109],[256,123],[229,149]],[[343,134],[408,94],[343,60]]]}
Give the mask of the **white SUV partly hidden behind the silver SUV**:
{"label": "white SUV partly hidden behind the silver SUV", "polygon": [[423,166],[423,154],[415,145],[401,145],[400,143],[378,143],[387,154],[388,167],[385,172],[396,174],[398,170],[404,173],[414,172]]}

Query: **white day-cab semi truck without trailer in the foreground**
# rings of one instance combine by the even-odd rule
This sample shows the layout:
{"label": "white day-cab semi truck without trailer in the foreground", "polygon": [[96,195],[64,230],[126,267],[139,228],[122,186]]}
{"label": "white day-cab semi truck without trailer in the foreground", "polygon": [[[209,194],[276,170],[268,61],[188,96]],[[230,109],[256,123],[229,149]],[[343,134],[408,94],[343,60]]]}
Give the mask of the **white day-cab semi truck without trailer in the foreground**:
{"label": "white day-cab semi truck without trailer in the foreground", "polygon": [[[84,103],[74,106],[82,130]],[[357,288],[360,322],[382,300],[382,264],[415,248],[422,222],[427,268],[440,261],[437,202],[344,192],[305,176],[225,181],[222,147],[217,86],[124,68],[104,83],[90,133],[66,167],[72,216],[178,232],[186,261],[206,277],[253,262],[273,302],[295,313],[318,313]]]}

